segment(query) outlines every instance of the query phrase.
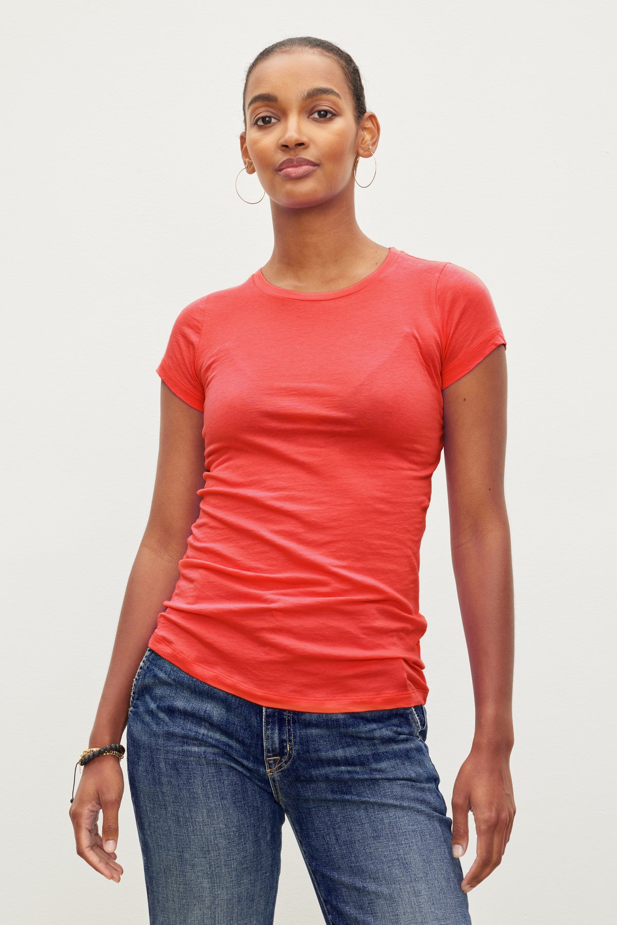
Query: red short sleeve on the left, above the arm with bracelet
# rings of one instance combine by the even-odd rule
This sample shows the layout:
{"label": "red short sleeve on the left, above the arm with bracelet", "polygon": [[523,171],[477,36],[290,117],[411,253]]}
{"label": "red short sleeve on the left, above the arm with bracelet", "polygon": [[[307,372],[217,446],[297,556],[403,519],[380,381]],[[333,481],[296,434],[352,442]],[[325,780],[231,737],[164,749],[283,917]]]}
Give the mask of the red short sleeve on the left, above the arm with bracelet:
{"label": "red short sleeve on the left, above the arm with bracelet", "polygon": [[205,297],[183,308],[167,341],[156,372],[172,392],[198,411],[204,411],[204,383],[198,372],[199,345],[204,327]]}

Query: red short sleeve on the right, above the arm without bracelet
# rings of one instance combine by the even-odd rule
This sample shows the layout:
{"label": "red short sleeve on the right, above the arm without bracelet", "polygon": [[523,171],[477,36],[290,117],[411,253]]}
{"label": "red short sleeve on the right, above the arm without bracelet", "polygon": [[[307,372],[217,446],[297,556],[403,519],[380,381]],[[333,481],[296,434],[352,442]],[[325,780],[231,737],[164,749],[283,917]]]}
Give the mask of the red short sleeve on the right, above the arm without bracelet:
{"label": "red short sleeve on the right, above the arm without bracelet", "polygon": [[450,386],[506,339],[495,305],[481,279],[448,263],[438,277],[436,310],[441,329],[441,388]]}

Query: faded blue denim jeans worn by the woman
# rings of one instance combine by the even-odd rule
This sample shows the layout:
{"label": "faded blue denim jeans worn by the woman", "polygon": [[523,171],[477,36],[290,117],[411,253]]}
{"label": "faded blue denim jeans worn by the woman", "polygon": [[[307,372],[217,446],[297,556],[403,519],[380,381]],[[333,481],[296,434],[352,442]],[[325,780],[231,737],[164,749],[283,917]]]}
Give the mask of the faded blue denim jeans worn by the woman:
{"label": "faded blue denim jeans worn by the woman", "polygon": [[469,925],[426,731],[423,706],[262,707],[148,648],[127,773],[151,925],[272,925],[286,819],[330,925]]}

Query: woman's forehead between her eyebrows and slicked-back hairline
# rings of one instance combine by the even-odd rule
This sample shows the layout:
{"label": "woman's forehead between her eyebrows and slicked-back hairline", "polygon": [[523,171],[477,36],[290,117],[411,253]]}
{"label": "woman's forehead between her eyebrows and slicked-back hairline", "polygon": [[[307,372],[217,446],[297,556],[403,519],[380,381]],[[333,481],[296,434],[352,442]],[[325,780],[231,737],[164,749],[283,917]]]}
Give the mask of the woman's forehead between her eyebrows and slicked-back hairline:
{"label": "woman's forehead between her eyebrows and slicked-back hairline", "polygon": [[280,100],[293,101],[303,90],[315,86],[332,87],[343,99],[350,99],[345,75],[339,62],[308,48],[275,52],[255,65],[246,84],[247,103],[255,93],[276,93]]}

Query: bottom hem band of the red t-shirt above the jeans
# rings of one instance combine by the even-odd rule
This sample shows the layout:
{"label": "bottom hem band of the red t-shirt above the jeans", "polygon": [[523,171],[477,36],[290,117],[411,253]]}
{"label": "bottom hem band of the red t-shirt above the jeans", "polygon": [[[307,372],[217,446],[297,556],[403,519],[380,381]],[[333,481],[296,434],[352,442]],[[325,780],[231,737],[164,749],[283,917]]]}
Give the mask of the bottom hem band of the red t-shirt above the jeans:
{"label": "bottom hem band of the red t-shirt above the jeans", "polygon": [[419,707],[426,704],[427,687],[410,688],[405,691],[390,691],[388,694],[363,695],[361,697],[309,697],[304,695],[279,694],[276,691],[264,691],[259,687],[243,684],[237,678],[225,672],[206,668],[201,662],[191,659],[185,652],[180,652],[166,640],[151,636],[148,647],[171,661],[181,671],[191,677],[218,687],[220,690],[242,697],[261,707],[278,709],[296,709],[308,713],[349,713],[372,709],[396,709],[398,707]]}

